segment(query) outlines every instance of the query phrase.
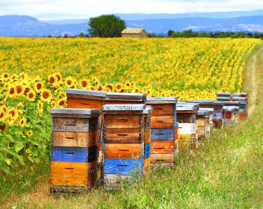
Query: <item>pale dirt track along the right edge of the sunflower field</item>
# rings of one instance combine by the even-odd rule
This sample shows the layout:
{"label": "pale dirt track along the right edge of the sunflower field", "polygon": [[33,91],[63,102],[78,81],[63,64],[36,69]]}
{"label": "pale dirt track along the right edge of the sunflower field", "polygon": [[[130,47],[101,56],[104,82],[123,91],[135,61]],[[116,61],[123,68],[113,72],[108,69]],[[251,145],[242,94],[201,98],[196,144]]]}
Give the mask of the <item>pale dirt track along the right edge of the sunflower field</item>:
{"label": "pale dirt track along the right edge of the sunflower field", "polygon": [[246,63],[244,69],[244,91],[249,93],[248,115],[263,109],[263,46]]}

